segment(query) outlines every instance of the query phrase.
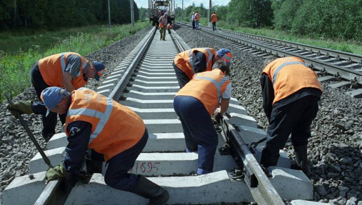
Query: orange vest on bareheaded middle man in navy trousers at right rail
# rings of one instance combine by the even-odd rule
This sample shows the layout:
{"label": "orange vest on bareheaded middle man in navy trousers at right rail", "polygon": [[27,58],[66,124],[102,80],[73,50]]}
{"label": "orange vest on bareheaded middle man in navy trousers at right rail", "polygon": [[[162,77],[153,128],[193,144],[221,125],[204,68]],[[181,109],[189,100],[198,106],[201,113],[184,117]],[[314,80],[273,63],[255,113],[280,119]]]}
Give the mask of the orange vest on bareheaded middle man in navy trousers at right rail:
{"label": "orange vest on bareheaded middle man in navy trousers at right rail", "polygon": [[195,74],[193,79],[176,93],[176,96],[185,95],[197,98],[212,115],[219,107],[219,100],[229,83],[230,81],[224,73],[216,68]]}

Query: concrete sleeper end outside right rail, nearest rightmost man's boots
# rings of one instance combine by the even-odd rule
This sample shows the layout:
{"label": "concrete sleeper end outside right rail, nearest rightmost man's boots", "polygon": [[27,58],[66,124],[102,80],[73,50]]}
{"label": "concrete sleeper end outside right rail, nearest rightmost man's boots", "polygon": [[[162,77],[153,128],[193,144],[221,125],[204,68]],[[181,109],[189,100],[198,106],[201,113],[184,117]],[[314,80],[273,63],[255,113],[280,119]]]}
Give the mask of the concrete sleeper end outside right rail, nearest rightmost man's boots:
{"label": "concrete sleeper end outside right rail, nearest rightmost man's boots", "polygon": [[313,184],[303,171],[281,167],[269,167],[268,171],[273,175],[269,180],[282,199],[313,199]]}

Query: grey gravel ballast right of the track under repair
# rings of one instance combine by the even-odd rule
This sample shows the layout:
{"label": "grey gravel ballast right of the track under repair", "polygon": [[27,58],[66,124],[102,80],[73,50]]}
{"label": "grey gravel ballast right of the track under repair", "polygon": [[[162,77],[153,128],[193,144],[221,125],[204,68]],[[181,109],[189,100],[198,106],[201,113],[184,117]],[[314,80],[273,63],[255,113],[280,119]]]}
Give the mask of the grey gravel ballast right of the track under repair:
{"label": "grey gravel ballast right of the track under repair", "polygon": [[[259,75],[263,58],[241,51],[215,36],[190,28],[178,27],[177,34],[190,46],[227,48],[234,55],[230,80],[233,97],[266,130],[267,118],[261,107]],[[308,153],[314,200],[330,204],[352,205],[362,200],[362,100],[346,95],[347,89],[332,89],[322,83],[324,93],[319,112],[311,125]],[[284,151],[294,158],[290,143]],[[360,202],[362,204],[362,202]]]}

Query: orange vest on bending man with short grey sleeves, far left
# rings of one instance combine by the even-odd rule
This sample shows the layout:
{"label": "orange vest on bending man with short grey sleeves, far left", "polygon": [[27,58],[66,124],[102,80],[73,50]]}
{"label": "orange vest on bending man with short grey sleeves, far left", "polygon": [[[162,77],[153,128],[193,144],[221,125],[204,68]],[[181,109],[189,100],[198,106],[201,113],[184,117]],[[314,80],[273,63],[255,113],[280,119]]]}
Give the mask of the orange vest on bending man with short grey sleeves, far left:
{"label": "orange vest on bending man with short grey sleeves, far left", "polygon": [[81,58],[79,72],[77,76],[71,80],[71,84],[74,86],[74,89],[86,85],[87,82],[83,79],[83,69],[86,68],[88,60],[76,52],[58,53],[39,60],[40,74],[47,85],[64,87],[63,75],[69,55],[78,55]]}

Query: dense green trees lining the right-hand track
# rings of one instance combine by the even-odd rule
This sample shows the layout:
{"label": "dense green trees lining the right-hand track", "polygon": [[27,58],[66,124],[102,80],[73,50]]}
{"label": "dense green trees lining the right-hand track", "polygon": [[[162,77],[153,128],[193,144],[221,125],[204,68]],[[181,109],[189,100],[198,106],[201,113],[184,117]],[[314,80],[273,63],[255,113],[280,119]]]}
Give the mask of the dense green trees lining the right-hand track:
{"label": "dense green trees lining the right-hand track", "polygon": [[[207,5],[208,7],[208,5]],[[203,4],[184,8],[184,19],[192,12],[208,17]],[[311,37],[362,40],[362,0],[230,0],[212,6],[219,19],[251,28],[272,28]],[[181,8],[176,9],[181,17]]]}

